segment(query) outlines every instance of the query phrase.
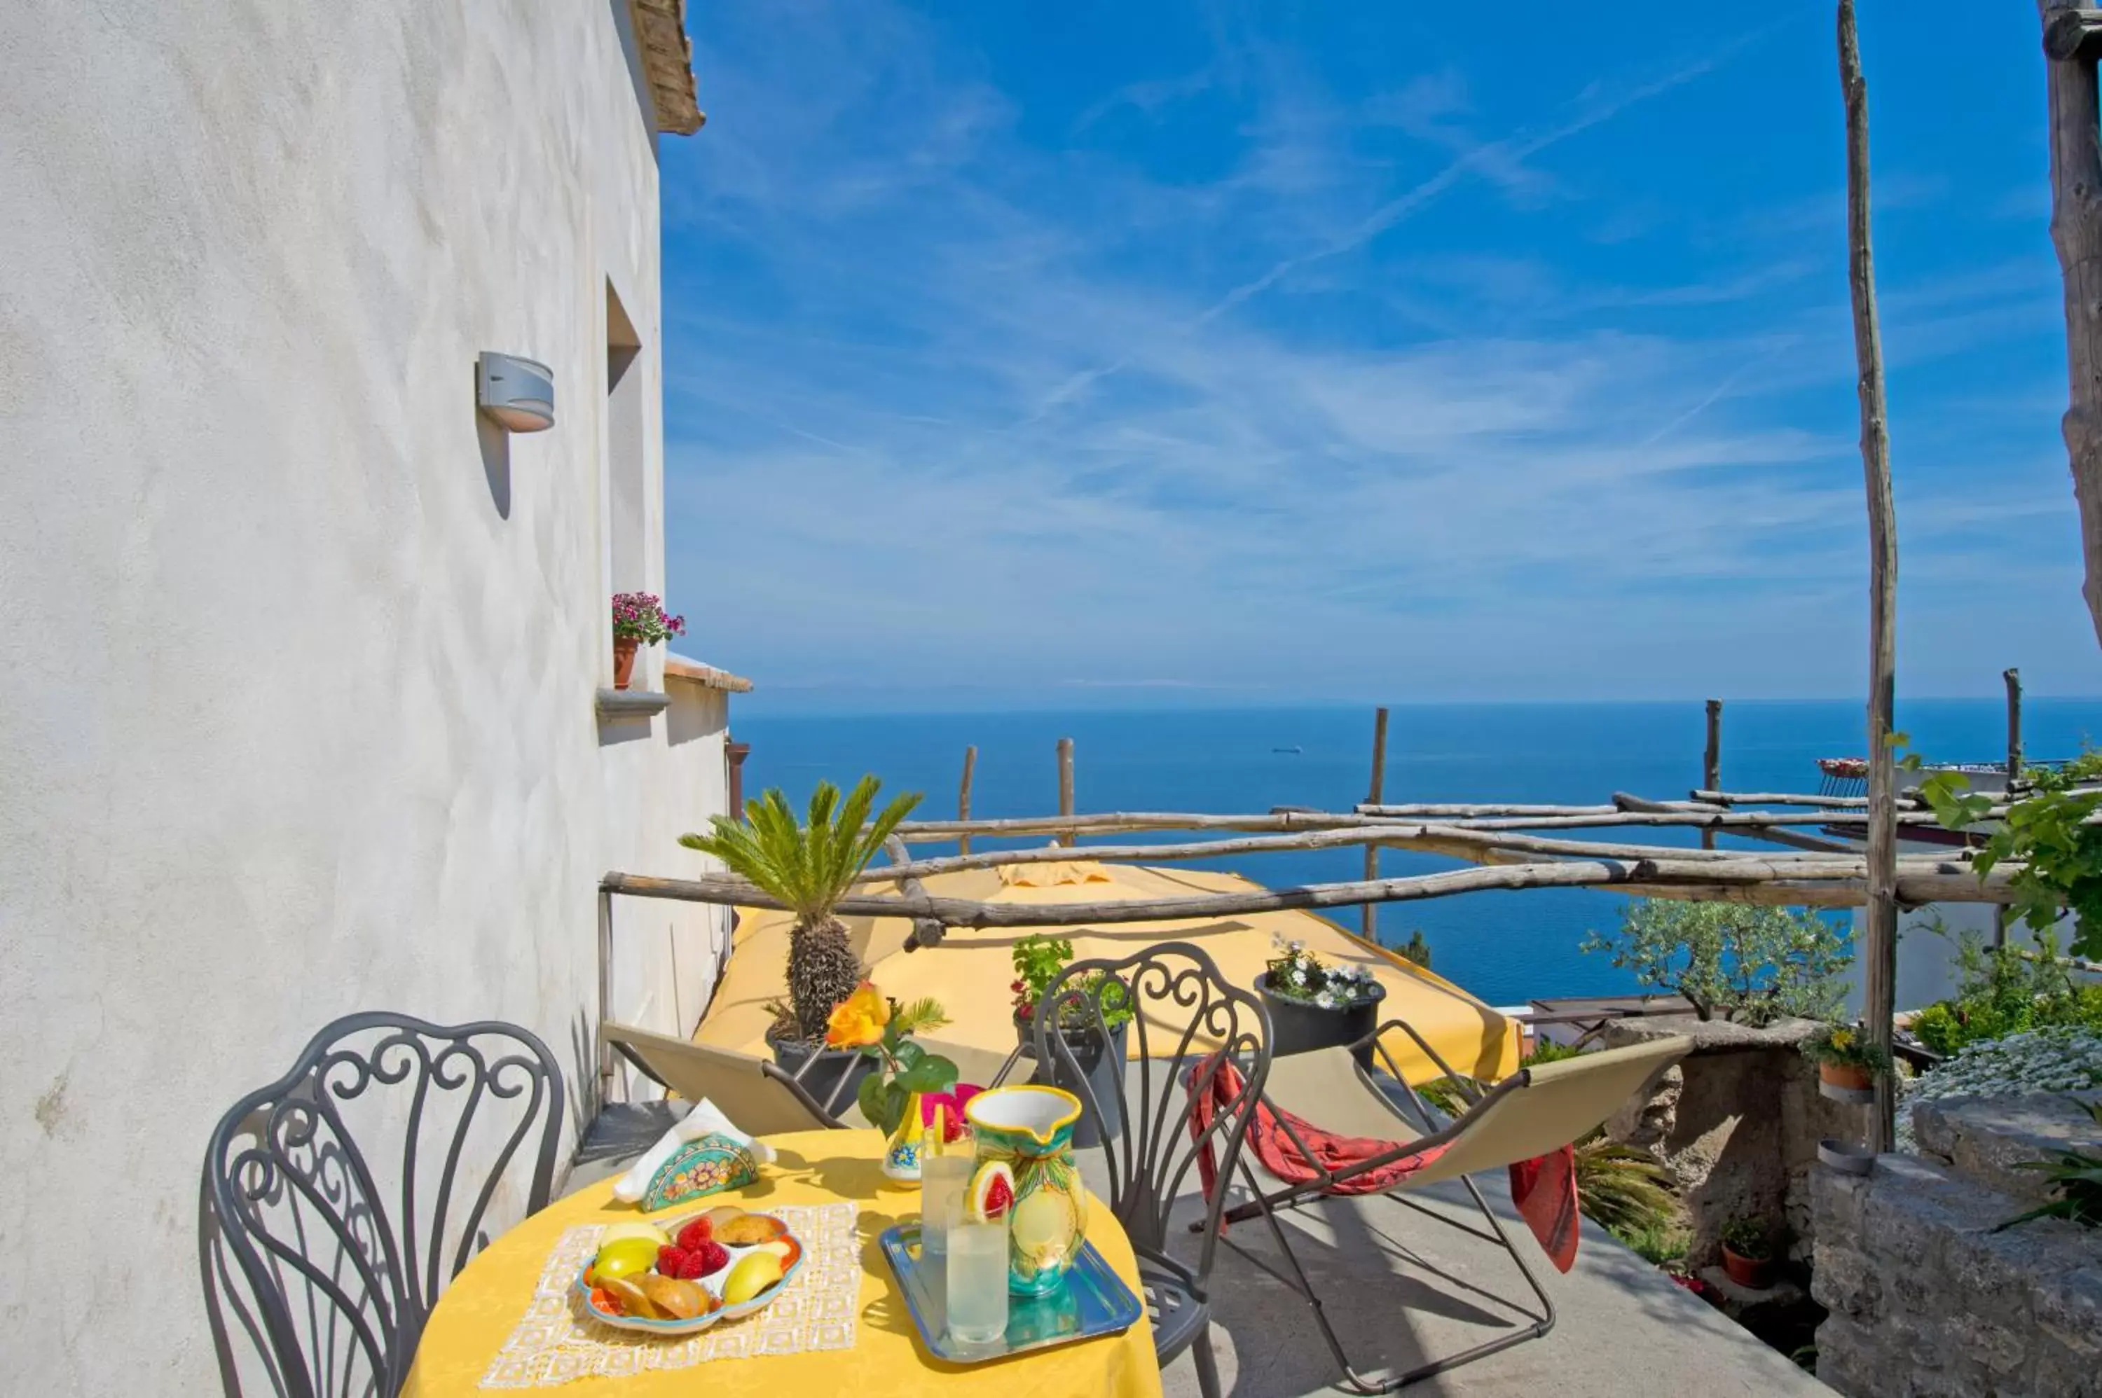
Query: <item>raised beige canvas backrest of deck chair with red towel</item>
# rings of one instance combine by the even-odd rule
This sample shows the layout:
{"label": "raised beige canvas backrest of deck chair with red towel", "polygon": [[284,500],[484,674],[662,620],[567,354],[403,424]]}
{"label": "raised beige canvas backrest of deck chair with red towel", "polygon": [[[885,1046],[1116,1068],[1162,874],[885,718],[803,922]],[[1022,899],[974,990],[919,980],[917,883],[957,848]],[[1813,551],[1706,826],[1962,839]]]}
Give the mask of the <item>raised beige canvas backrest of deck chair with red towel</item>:
{"label": "raised beige canvas backrest of deck chair with red towel", "polygon": [[1408,1177],[1408,1188],[1560,1150],[1621,1110],[1688,1049],[1690,1039],[1673,1036],[1520,1068],[1452,1127],[1425,1137],[1450,1144]]}

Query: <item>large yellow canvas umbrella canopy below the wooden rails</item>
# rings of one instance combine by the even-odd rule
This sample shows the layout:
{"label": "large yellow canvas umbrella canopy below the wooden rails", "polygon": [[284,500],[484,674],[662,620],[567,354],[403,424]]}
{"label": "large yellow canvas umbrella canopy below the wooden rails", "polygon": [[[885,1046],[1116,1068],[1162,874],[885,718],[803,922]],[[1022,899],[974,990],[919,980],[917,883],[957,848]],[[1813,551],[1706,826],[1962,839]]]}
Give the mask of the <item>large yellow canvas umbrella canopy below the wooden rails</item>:
{"label": "large yellow canvas umbrella canopy below the wooden rails", "polygon": [[[1173,898],[1188,893],[1240,893],[1259,885],[1240,875],[1133,864],[1007,864],[933,875],[929,893],[977,902],[1085,904],[1116,898]],[[696,1043],[765,1055],[767,1005],[788,994],[788,912],[738,910],[738,931],[729,967]],[[1158,923],[1112,923],[1106,927],[952,927],[940,946],[904,950],[912,931],[902,917],[845,919],[853,950],[870,980],[898,1001],[933,996],[948,1011],[948,1028],[925,1034],[929,1049],[956,1060],[965,1081],[984,1083],[1015,1047],[1009,952],[1032,931],[1049,931],[1072,942],[1074,961],[1116,959],[1154,942],[1192,942],[1219,965],[1236,986],[1255,986],[1263,963],[1276,957],[1274,938],[1305,942],[1328,965],[1360,965],[1373,971],[1387,999],[1381,1020],[1406,1020],[1459,1072],[1501,1078],[1518,1068],[1518,1024],[1387,948],[1343,931],[1312,912],[1251,912],[1228,919],[1171,919]],[[1146,1013],[1143,1001],[1139,1013]],[[1171,1041],[1173,1043],[1173,1041]],[[1436,1064],[1400,1032],[1387,1034],[1385,1051],[1410,1083],[1440,1076]],[[1154,1036],[1160,1051],[1160,1036]],[[1139,1051],[1137,1034],[1129,1051]]]}

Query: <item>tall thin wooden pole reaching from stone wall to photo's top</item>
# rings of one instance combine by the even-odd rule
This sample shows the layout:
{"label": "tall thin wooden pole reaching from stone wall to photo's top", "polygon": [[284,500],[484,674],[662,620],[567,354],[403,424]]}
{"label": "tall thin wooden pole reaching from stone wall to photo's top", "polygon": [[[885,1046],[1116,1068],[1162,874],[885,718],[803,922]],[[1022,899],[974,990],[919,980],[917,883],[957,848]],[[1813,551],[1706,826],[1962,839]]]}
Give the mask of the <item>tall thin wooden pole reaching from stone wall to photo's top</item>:
{"label": "tall thin wooden pole reaching from stone wall to photo's top", "polygon": [[[1883,404],[1883,332],[1875,313],[1869,238],[1869,82],[1860,76],[1854,0],[1839,0],[1839,90],[1846,97],[1846,242],[1854,301],[1854,366],[1860,399],[1860,469],[1869,496],[1869,839],[1862,912],[1862,1011],[1869,1039],[1890,1049],[1898,980],[1898,769],[1890,751],[1896,711],[1898,521],[1890,492],[1890,427]],[[1877,1076],[1871,1150],[1896,1137],[1896,1093]]]}

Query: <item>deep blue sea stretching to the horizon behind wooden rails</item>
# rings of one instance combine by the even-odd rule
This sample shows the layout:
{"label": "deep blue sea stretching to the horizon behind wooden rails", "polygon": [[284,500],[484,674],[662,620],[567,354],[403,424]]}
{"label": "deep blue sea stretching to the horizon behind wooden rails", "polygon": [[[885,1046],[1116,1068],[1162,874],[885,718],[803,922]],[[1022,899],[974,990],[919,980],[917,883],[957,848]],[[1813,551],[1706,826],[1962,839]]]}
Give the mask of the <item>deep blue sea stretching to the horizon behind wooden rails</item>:
{"label": "deep blue sea stretching to the horizon behind wooden rails", "polygon": [[[2031,698],[2022,717],[2031,759],[2073,757],[2089,736],[2102,740],[2102,700]],[[1898,727],[1911,736],[1915,753],[1934,761],[1999,761],[2005,755],[2001,700],[1913,700],[1900,706]],[[1251,814],[1274,805],[1347,811],[1366,797],[1371,782],[1373,711],[738,713],[734,732],[753,744],[746,793],[782,786],[799,805],[822,778],[845,786],[874,772],[887,790],[925,793],[921,818],[952,818],[963,751],[975,744],[973,816],[1049,816],[1057,811],[1055,744],[1072,738],[1083,814]],[[1698,700],[1396,706],[1387,729],[1385,799],[1600,803],[1614,790],[1684,799],[1701,784],[1705,738]],[[1816,790],[1818,757],[1862,751],[1860,702],[1734,702],[1724,711],[1722,780],[1730,790]],[[1658,830],[1621,837],[1692,839]],[[1120,839],[1167,843],[1177,837]],[[975,845],[986,847],[984,841]],[[1194,866],[1232,868],[1286,887],[1358,879],[1364,854],[1263,854]],[[1381,854],[1383,875],[1452,866],[1431,856]],[[1579,944],[1587,929],[1616,925],[1623,902],[1595,889],[1467,893],[1387,904],[1379,912],[1379,933],[1383,942],[1406,942],[1413,929],[1423,929],[1434,969],[1492,1005],[1612,994],[1633,990],[1631,978]],[[1343,908],[1335,917],[1356,927],[1358,910]]]}

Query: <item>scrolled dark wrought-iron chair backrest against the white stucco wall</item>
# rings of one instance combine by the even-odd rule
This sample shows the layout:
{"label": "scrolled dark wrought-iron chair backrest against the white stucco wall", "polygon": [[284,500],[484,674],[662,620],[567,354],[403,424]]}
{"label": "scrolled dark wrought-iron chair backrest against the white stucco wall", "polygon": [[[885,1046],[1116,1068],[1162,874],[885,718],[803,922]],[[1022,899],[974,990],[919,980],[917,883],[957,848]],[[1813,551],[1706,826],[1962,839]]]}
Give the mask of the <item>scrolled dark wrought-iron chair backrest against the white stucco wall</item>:
{"label": "scrolled dark wrought-iron chair backrest against the white stucco wall", "polygon": [[[376,1011],[315,1034],[221,1116],[204,1158],[198,1261],[225,1390],[261,1364],[292,1398],[395,1394],[498,1192],[507,1213],[547,1207],[561,1127],[561,1070],[513,1024]],[[465,1158],[488,1169],[469,1177]]]}

